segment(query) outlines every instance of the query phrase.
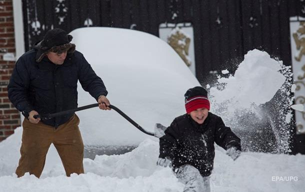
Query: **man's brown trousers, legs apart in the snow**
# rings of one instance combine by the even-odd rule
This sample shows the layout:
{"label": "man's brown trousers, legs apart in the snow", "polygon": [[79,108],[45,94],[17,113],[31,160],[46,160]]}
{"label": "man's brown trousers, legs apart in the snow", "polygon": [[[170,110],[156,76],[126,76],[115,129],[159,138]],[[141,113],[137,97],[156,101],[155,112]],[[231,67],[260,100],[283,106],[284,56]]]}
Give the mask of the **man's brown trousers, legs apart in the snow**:
{"label": "man's brown trousers, legs apart in the snow", "polygon": [[20,160],[16,169],[18,177],[26,172],[40,177],[46,153],[53,144],[60,156],[66,176],[83,173],[83,143],[78,129],[76,115],[56,129],[41,122],[32,124],[27,119],[22,123],[22,144]]}

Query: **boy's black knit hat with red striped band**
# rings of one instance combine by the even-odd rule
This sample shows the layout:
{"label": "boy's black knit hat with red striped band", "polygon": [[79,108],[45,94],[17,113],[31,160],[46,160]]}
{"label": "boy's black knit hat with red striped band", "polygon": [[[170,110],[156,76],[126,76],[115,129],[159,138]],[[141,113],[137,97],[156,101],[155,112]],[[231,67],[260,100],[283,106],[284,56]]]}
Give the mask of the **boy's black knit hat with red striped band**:
{"label": "boy's black knit hat with red striped band", "polygon": [[197,86],[188,89],[184,94],[184,98],[186,113],[200,108],[209,110],[207,91],[203,87]]}

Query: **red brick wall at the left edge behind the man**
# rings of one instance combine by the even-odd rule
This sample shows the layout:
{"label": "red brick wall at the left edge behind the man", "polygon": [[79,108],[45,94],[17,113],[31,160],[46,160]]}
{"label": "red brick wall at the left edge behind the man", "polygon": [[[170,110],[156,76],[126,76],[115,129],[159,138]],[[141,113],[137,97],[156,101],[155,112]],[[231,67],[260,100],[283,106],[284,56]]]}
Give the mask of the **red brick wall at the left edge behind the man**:
{"label": "red brick wall at the left edge behind the man", "polygon": [[15,55],[12,0],[0,0],[0,141],[20,126],[20,114],[7,98],[6,86],[15,64],[7,61],[8,53]]}

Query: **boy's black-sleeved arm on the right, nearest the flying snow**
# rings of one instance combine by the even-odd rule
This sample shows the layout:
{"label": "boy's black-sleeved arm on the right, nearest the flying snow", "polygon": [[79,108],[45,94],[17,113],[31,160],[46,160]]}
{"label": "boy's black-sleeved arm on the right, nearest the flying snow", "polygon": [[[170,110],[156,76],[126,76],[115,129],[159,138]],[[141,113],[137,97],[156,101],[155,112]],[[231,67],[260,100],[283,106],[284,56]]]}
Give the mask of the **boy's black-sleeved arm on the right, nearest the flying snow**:
{"label": "boy's black-sleeved arm on the right, nearest the flying snow", "polygon": [[241,150],[240,139],[231,131],[229,127],[225,127],[222,119],[217,119],[215,143],[227,150],[231,147],[235,147],[236,150]]}

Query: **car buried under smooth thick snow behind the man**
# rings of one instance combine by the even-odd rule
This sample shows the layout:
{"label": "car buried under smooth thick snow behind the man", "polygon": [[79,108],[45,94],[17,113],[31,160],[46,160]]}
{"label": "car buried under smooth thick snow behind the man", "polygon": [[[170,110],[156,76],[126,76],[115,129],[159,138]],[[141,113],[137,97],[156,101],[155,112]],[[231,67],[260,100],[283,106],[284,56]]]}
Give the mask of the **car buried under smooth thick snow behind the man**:
{"label": "car buried under smooth thick snow behind the man", "polygon": [[[155,123],[169,126],[185,113],[184,93],[199,86],[178,54],[163,40],[141,31],[113,27],[78,28],[70,32],[104,81],[110,103],[147,131]],[[96,101],[78,84],[78,106]],[[137,130],[114,110],[98,108],[76,113],[86,151],[116,153],[152,138]]]}

